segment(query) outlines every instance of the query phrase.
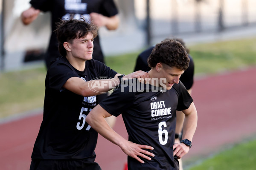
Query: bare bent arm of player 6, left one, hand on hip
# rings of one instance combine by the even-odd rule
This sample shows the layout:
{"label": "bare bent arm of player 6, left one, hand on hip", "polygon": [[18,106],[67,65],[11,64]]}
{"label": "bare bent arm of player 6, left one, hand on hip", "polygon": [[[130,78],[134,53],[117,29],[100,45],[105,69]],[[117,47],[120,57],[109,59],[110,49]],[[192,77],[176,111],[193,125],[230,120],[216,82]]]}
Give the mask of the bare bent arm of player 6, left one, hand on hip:
{"label": "bare bent arm of player 6, left one, hand on hip", "polygon": [[104,138],[108,139],[113,144],[118,145],[125,154],[127,154],[128,156],[131,156],[132,158],[136,159],[137,161],[144,163],[144,161],[141,160],[138,156],[141,156],[142,158],[145,158],[148,160],[151,160],[151,158],[146,155],[154,157],[153,153],[150,153],[150,152],[144,150],[144,149],[153,150],[154,149],[153,147],[147,146],[147,145],[135,144],[133,142],[130,142],[130,141],[124,139],[118,133],[116,133],[113,129],[111,129],[111,127],[105,121],[105,118],[109,117],[109,116],[111,116],[110,113],[105,111],[105,109],[103,109],[100,105],[97,105],[87,115],[86,122],[94,130],[96,130],[99,134],[101,134]]}

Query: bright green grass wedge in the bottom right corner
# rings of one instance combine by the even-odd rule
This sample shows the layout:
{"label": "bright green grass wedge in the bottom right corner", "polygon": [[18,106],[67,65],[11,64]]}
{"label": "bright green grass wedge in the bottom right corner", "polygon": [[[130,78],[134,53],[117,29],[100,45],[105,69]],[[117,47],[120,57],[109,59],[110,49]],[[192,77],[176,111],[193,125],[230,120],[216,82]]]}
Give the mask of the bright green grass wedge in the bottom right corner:
{"label": "bright green grass wedge in the bottom right corner", "polygon": [[236,145],[188,170],[255,170],[256,140]]}

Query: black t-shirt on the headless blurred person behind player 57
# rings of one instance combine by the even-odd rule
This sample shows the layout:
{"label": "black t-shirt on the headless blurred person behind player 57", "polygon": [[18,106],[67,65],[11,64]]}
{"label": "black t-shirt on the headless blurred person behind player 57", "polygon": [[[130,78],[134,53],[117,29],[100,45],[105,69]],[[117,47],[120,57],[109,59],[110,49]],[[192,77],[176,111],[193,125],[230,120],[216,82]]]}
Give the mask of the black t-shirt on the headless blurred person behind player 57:
{"label": "black t-shirt on the headless blurred person behind player 57", "polygon": [[[106,17],[112,17],[118,14],[113,0],[31,0],[30,3],[35,9],[40,9],[45,12],[50,11],[52,14],[52,35],[46,56],[50,59],[48,59],[47,65],[49,65],[52,59],[60,57],[58,52],[58,40],[56,34],[53,32],[56,29],[56,23],[60,22],[60,19],[68,17],[69,15],[67,14],[82,14],[85,18],[87,18],[89,16],[88,14],[91,12],[96,12]],[[93,59],[104,62],[99,35],[94,39],[93,44]]]}

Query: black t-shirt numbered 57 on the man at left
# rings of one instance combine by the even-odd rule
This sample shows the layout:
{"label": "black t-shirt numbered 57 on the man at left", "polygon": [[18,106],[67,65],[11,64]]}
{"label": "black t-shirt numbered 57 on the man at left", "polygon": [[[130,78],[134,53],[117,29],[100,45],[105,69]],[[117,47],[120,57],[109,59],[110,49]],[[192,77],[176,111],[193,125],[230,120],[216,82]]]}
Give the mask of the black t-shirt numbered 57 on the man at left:
{"label": "black t-shirt numbered 57 on the man at left", "polygon": [[88,159],[94,161],[98,133],[85,121],[97,104],[96,96],[84,97],[63,88],[71,77],[89,81],[114,77],[116,71],[102,62],[86,61],[84,71],[73,68],[65,57],[57,59],[47,71],[44,116],[35,141],[32,159]]}

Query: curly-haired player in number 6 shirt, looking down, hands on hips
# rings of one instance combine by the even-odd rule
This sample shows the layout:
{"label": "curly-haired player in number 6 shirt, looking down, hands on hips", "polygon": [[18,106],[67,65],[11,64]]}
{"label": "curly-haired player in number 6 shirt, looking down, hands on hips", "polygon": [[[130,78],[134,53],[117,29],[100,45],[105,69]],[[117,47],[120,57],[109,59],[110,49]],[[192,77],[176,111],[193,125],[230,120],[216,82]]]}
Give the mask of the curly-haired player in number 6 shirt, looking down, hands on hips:
{"label": "curly-haired player in number 6 shirt, looking down, hands on hips", "polygon": [[[189,152],[197,126],[192,97],[179,81],[189,66],[180,42],[163,41],[148,58],[150,79],[122,81],[119,88],[87,116],[88,124],[128,155],[128,170],[178,170],[177,159]],[[175,143],[176,110],[185,114],[183,140]],[[105,117],[122,114],[126,140],[109,127]],[[152,148],[142,149],[142,145]]]}

